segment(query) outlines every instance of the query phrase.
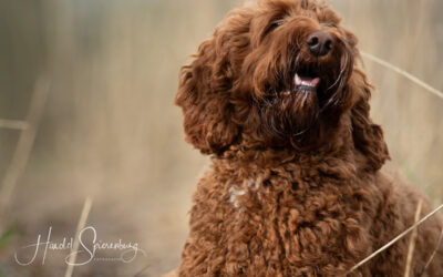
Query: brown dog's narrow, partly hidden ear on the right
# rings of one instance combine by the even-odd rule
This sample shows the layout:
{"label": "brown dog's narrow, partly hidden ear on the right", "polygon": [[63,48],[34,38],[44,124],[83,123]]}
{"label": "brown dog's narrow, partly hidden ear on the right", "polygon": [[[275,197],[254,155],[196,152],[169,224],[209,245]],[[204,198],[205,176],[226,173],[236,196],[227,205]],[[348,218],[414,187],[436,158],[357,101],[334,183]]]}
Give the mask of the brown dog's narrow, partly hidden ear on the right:
{"label": "brown dog's narrow, partly hidden ear on the right", "polygon": [[372,122],[369,114],[369,100],[373,86],[367,81],[364,73],[357,69],[349,85],[350,90],[356,92],[356,103],[351,110],[354,147],[367,157],[365,170],[378,171],[390,156],[383,131]]}

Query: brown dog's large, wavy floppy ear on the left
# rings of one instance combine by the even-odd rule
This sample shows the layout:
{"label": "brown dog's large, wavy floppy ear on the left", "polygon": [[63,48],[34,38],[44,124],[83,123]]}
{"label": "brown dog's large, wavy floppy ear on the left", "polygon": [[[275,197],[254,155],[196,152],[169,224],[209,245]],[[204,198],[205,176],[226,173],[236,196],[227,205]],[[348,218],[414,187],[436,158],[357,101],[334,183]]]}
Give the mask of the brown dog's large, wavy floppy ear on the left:
{"label": "brown dog's large, wavy floppy ear on the left", "polygon": [[248,18],[243,16],[225,19],[179,73],[175,103],[183,109],[186,141],[204,154],[222,154],[239,136],[231,89],[249,47]]}

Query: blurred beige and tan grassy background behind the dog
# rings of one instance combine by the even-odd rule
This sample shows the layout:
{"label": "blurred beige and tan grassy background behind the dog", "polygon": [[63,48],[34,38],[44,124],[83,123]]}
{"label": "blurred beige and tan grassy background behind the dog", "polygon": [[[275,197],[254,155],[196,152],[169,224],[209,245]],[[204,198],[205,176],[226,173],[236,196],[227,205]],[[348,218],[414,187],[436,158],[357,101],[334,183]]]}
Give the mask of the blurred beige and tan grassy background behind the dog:
{"label": "blurred beige and tan grassy background behind the dog", "polygon": [[[361,50],[443,90],[443,1],[328,2]],[[44,240],[50,227],[53,242],[74,236],[87,196],[97,240],[137,243],[146,255],[94,260],[73,276],[158,276],[178,265],[190,195],[208,162],[184,142],[173,105],[178,70],[239,4],[0,0],[1,277],[64,276],[66,249],[48,250],[43,263],[41,247],[29,266],[14,254],[30,260],[35,247],[21,247],[39,234]],[[372,116],[384,126],[389,166],[442,203],[443,100],[363,61],[378,88]],[[22,121],[31,123],[25,131]]]}

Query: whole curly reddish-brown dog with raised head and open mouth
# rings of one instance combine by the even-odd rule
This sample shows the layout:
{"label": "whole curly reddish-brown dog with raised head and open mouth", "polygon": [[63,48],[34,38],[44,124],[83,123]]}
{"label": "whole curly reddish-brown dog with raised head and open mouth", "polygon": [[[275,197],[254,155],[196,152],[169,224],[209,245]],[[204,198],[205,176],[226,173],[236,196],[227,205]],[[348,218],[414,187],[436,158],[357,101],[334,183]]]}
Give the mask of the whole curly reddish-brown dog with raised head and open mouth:
{"label": "whole curly reddish-brown dog with raised head and open mouth", "polygon": [[[261,0],[234,10],[182,68],[186,140],[212,156],[190,211],[179,276],[346,276],[430,202],[381,171],[372,86],[357,38],[326,3]],[[425,266],[442,223],[418,232]],[[349,276],[403,276],[410,236]],[[443,276],[443,249],[427,276]]]}

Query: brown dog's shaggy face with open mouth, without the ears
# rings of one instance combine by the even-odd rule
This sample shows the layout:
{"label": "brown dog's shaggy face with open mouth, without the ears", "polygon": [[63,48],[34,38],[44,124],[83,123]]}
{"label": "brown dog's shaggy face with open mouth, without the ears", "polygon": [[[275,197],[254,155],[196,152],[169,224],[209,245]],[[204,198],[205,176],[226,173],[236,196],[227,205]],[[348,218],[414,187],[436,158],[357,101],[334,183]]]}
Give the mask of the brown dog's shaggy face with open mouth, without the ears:
{"label": "brown dog's shaggy face with open mouth, without the ears", "polygon": [[261,1],[248,35],[236,89],[255,100],[260,124],[274,143],[300,144],[349,109],[347,83],[357,39],[328,6]]}

